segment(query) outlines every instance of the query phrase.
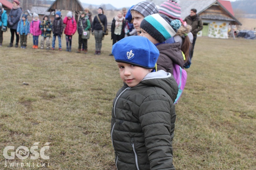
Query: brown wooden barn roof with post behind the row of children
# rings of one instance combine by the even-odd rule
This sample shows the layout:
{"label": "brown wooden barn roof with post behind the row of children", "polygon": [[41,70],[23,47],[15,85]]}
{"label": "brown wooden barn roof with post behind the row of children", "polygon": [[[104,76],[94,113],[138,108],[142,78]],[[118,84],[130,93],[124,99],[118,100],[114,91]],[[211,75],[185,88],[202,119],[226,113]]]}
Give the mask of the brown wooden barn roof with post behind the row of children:
{"label": "brown wooden barn roof with post behind the row of children", "polygon": [[67,10],[75,13],[75,20],[78,20],[79,12],[84,11],[84,7],[80,0],[55,0],[52,5],[48,8],[48,12],[52,13],[55,11]]}

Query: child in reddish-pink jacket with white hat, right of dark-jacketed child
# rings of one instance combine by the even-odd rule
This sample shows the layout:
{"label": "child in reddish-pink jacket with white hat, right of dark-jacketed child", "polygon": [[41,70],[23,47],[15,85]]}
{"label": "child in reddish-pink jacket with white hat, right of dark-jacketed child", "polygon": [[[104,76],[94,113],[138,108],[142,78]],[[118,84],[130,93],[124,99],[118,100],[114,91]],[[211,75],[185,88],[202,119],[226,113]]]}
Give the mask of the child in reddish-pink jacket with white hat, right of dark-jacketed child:
{"label": "child in reddish-pink jacket with white hat, right of dark-jacketed child", "polygon": [[64,34],[66,35],[67,50],[71,52],[72,35],[76,32],[76,21],[72,16],[72,12],[69,11],[67,16],[64,18],[63,23],[66,24]]}

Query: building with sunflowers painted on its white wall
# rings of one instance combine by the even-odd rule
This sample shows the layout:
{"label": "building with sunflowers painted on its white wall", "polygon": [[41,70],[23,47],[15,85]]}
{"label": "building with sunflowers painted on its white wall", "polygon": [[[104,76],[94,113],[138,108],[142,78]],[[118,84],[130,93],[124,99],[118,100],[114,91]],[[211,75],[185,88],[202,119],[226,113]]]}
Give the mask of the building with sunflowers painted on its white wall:
{"label": "building with sunflowers painted on its white wall", "polygon": [[202,18],[203,30],[198,36],[228,38],[229,25],[242,25],[235,17],[230,1],[224,0],[180,0],[181,18],[185,19],[195,8]]}

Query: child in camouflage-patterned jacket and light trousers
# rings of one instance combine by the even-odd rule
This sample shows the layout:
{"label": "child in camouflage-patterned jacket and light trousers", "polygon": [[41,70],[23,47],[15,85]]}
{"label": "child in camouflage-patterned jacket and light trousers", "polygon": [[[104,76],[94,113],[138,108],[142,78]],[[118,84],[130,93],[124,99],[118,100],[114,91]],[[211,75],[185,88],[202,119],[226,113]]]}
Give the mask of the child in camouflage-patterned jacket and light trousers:
{"label": "child in camouflage-patterned jacket and light trousers", "polygon": [[45,15],[43,18],[43,22],[40,24],[40,29],[42,31],[41,37],[41,47],[40,49],[44,49],[44,41],[46,40],[46,50],[50,49],[50,37],[52,32],[52,22],[48,15]]}

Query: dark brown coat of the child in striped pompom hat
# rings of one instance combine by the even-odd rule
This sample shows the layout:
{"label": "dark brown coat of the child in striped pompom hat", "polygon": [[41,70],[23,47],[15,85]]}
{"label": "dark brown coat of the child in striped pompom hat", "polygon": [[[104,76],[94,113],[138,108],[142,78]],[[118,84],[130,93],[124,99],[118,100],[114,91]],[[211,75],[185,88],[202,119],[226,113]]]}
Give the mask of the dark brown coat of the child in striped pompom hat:
{"label": "dark brown coat of the child in striped pompom hat", "polygon": [[183,68],[184,58],[180,43],[159,44],[156,48],[160,53],[156,62],[157,70],[164,70],[173,74],[173,63],[176,63]]}

